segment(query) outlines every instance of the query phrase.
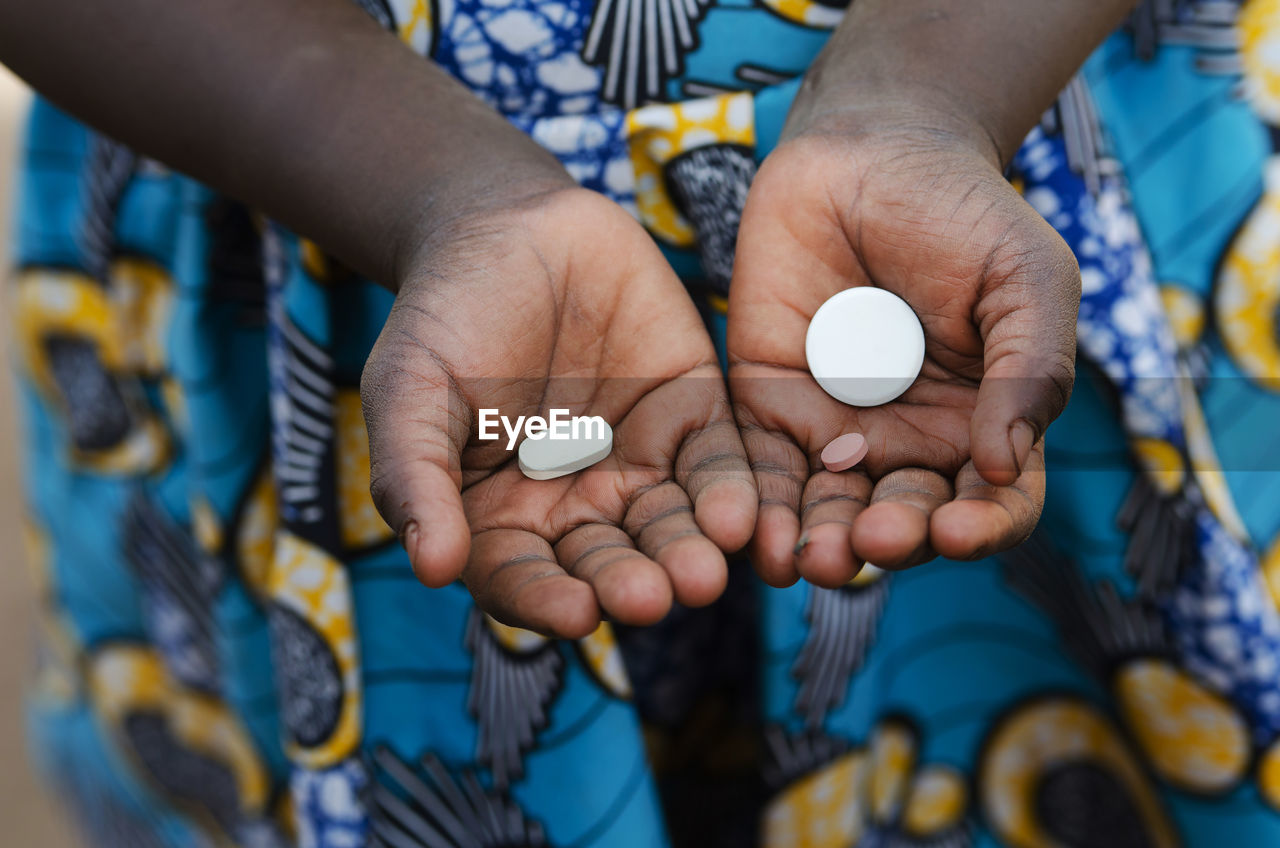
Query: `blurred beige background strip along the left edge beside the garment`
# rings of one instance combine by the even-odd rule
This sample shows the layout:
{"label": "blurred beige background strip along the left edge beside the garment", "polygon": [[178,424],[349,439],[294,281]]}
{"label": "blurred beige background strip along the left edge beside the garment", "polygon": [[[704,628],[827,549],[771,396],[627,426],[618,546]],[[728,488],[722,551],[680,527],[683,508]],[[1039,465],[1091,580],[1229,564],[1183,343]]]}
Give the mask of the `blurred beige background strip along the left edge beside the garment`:
{"label": "blurred beige background strip along the left edge beside the garment", "polygon": [[[13,232],[13,175],[29,92],[0,67],[0,274],[8,282]],[[4,293],[8,295],[5,287]],[[31,669],[31,610],[36,603],[22,561],[18,461],[9,374],[9,310],[0,300],[0,845],[72,848],[67,813],[31,770],[23,734],[23,689]]]}

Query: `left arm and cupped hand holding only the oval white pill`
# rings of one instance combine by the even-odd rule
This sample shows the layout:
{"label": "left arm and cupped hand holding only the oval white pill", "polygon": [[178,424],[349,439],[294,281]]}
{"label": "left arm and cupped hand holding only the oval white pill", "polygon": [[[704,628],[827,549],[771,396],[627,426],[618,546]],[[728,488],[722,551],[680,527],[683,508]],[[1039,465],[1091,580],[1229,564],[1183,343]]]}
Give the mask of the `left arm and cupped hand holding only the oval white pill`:
{"label": "left arm and cupped hand holding only the oval white pill", "polygon": [[[448,74],[348,0],[4,0],[0,56],[397,292],[361,397],[425,584],[564,638],[721,593],[758,497],[694,304],[639,223]],[[609,460],[534,484],[471,438],[477,409],[549,406],[607,416]]]}

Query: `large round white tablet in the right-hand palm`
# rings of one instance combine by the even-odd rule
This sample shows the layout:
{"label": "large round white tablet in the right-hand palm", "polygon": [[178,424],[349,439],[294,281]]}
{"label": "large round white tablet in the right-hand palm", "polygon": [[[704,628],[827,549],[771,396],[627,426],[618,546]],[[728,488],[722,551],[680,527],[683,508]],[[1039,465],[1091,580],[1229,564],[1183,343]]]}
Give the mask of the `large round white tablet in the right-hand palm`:
{"label": "large round white tablet in the right-hand palm", "polygon": [[809,373],[850,406],[879,406],[905,392],[924,364],[924,328],[897,295],[846,288],[818,307],[804,339]]}

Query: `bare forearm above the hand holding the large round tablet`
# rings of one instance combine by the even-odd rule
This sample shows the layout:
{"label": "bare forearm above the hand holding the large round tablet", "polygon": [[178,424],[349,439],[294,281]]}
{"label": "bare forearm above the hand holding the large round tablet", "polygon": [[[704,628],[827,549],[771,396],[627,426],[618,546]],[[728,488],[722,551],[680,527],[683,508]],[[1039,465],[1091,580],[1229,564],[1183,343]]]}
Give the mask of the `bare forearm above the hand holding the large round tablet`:
{"label": "bare forearm above the hand holding the large round tablet", "polygon": [[1001,165],[1134,0],[855,0],[788,131],[851,111],[922,115]]}

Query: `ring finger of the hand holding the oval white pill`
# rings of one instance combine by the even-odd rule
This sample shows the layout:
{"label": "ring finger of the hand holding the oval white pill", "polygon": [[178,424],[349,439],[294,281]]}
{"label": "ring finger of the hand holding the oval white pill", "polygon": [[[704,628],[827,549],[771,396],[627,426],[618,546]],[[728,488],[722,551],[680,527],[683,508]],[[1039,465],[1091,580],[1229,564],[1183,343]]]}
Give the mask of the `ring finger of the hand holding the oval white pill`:
{"label": "ring finger of the hand holding the oval white pill", "polygon": [[627,507],[623,529],[667,571],[676,599],[685,606],[705,606],[724,591],[724,555],[703,535],[689,496],[673,480],[641,491]]}

